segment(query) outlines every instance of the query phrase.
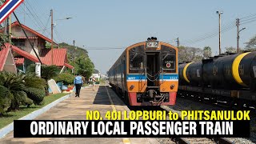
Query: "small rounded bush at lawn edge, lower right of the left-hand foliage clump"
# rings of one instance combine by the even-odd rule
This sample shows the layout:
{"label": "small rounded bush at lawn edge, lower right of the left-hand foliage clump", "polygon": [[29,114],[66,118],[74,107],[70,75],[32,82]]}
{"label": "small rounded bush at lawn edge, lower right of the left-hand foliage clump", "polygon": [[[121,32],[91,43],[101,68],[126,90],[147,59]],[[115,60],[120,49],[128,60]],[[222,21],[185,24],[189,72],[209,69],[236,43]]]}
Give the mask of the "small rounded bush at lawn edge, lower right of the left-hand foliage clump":
{"label": "small rounded bush at lawn edge, lower right of the left-hand foliage clump", "polygon": [[27,88],[25,92],[27,97],[30,98],[35,105],[41,105],[41,102],[43,101],[43,98],[46,95],[44,90],[33,87]]}

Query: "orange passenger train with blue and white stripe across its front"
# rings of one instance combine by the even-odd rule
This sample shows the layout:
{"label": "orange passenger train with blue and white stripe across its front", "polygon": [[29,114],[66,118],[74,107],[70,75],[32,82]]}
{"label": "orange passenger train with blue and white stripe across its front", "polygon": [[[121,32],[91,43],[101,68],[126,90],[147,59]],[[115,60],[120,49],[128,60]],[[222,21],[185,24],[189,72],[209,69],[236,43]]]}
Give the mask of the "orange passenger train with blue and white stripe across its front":
{"label": "orange passenger train with blue and white stripe across its front", "polygon": [[107,74],[110,86],[130,106],[173,106],[178,91],[178,48],[147,38],[128,46]]}

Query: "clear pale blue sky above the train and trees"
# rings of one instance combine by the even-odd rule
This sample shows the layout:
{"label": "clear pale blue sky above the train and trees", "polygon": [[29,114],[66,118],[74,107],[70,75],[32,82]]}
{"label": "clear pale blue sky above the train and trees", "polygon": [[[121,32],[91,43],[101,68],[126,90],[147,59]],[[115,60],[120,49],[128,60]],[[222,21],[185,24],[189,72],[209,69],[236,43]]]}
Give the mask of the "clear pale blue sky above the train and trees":
{"label": "clear pale blue sky above the train and trees", "polygon": [[55,42],[75,40],[106,74],[127,46],[152,36],[174,46],[175,38],[182,46],[210,46],[218,54],[217,10],[223,11],[222,51],[237,45],[236,18],[242,18],[241,29],[246,27],[239,41],[245,47],[256,34],[255,6],[255,0],[25,0],[15,13],[23,24],[50,38],[53,9]]}

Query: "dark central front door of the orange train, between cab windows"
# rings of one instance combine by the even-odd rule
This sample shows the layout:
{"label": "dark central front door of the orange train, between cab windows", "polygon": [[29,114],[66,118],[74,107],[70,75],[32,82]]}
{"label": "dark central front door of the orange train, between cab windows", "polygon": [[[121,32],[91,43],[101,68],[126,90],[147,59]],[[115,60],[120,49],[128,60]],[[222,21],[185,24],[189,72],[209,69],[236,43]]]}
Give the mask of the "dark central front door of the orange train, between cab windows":
{"label": "dark central front door of the orange train, between cab windows", "polygon": [[158,86],[159,53],[146,54],[147,86]]}

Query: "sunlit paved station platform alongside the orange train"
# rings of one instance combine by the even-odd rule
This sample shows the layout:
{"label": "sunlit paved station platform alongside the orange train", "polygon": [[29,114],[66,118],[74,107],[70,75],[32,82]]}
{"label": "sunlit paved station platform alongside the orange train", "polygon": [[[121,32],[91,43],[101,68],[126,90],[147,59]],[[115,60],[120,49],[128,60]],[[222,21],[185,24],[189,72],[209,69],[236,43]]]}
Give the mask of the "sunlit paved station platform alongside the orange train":
{"label": "sunlit paved station platform alongside the orange train", "polygon": [[[109,86],[95,86],[95,90],[89,86],[81,90],[80,98],[75,98],[73,94],[35,119],[85,120],[86,110],[98,110],[101,115],[106,114],[107,110],[130,111]],[[158,144],[159,142],[155,138],[14,138],[14,133],[10,132],[5,138],[0,139],[0,143]]]}

